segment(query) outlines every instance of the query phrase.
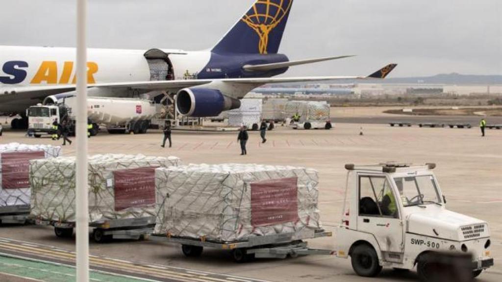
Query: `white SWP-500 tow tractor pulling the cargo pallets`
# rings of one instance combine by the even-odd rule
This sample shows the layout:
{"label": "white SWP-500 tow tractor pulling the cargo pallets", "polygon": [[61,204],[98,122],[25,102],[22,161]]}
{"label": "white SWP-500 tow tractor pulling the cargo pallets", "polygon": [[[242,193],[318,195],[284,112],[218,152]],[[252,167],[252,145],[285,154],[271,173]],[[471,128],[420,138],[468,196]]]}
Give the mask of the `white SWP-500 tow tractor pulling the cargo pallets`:
{"label": "white SWP-500 tow tractor pulling the cargo pallets", "polygon": [[345,165],[336,255],[350,256],[358,275],[376,276],[382,267],[417,266],[427,281],[445,259],[467,257],[464,268],[472,270],[473,277],[493,265],[488,224],[446,209],[432,172],[435,166]]}

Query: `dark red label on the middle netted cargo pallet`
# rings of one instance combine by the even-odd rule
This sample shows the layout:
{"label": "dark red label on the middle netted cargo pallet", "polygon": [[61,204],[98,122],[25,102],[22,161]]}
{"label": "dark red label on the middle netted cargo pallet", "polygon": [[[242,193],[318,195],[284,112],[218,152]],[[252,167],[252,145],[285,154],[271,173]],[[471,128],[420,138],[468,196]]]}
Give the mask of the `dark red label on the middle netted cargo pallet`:
{"label": "dark red label on the middle netted cargo pallet", "polygon": [[155,169],[139,168],[113,172],[115,211],[155,204]]}

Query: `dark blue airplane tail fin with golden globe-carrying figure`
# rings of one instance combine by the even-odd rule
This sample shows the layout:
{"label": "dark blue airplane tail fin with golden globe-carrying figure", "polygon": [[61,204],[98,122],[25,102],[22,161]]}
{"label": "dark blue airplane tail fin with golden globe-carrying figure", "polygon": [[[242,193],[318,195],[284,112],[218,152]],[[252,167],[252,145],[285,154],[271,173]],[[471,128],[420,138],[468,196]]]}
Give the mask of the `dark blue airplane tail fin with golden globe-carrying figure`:
{"label": "dark blue airplane tail fin with golden globe-carrying figure", "polygon": [[292,5],[293,0],[257,0],[212,51],[276,54]]}

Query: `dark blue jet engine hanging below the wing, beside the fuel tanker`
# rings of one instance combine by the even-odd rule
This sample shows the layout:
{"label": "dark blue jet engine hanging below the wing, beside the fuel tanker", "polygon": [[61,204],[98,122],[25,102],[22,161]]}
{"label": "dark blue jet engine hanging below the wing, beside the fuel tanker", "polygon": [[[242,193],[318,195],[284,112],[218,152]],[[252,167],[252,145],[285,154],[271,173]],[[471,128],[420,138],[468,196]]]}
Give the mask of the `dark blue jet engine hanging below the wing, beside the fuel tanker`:
{"label": "dark blue jet engine hanging below the wing, beside the fuel tanker", "polygon": [[206,117],[237,109],[240,107],[240,101],[227,97],[216,89],[185,88],[178,91],[176,106],[184,116]]}

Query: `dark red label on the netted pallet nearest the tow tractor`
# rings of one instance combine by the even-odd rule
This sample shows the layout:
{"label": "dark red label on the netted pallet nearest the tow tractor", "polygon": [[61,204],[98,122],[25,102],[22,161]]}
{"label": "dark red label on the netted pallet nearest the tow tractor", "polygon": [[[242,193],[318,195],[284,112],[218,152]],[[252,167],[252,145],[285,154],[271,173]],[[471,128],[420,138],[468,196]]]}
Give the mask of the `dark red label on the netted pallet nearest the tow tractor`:
{"label": "dark red label on the netted pallet nearest the tow tractor", "polygon": [[251,183],[251,224],[270,226],[298,220],[298,178]]}

